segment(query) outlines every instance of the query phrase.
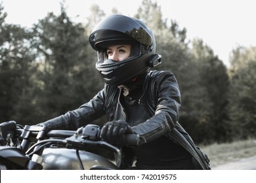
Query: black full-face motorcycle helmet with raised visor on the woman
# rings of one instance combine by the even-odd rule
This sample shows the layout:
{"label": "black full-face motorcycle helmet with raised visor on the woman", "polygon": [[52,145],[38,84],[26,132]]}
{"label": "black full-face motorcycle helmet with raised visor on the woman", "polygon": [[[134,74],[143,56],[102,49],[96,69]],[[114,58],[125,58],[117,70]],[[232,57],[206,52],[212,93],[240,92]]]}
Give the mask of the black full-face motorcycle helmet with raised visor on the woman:
{"label": "black full-face motorcycle helmet with raised visor on the woman", "polygon": [[[96,69],[106,84],[125,84],[161,62],[154,34],[136,18],[120,14],[104,18],[96,25],[89,42],[98,53]],[[131,44],[130,56],[123,61],[108,59],[106,48],[114,44]]]}

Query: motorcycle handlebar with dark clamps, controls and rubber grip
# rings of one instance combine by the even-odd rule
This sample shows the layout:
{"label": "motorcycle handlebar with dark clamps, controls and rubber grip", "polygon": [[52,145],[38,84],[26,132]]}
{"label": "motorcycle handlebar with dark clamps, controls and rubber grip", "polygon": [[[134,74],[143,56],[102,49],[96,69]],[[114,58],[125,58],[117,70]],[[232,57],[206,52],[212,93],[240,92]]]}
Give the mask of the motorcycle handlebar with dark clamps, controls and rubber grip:
{"label": "motorcycle handlebar with dark clamps, controls and rubber grip", "polygon": [[[28,150],[32,142],[45,141],[44,139],[62,139],[69,144],[75,144],[75,146],[84,146],[87,144],[95,144],[99,142],[102,144],[102,139],[100,139],[100,127],[98,125],[89,124],[85,127],[80,127],[77,131],[70,130],[51,130],[47,129],[46,126],[39,125],[25,125],[24,129],[20,127],[14,128],[15,122],[5,122],[0,125],[1,132],[10,131],[14,136],[21,138],[21,144],[19,147],[26,151]],[[6,130],[8,129],[8,130]],[[9,132],[8,132],[9,133]],[[137,134],[127,134],[125,135],[127,145],[129,146],[139,146],[140,136]],[[50,140],[50,139],[49,139]],[[85,142],[86,141],[86,142]],[[106,142],[108,144],[108,142]],[[104,146],[107,146],[104,144]]]}

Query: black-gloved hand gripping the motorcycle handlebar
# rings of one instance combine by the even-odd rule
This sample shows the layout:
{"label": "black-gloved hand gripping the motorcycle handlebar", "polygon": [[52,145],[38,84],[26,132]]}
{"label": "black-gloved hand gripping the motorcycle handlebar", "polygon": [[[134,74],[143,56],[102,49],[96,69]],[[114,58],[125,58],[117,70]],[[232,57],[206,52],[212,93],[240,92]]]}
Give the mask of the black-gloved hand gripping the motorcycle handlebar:
{"label": "black-gloved hand gripping the motorcycle handlebar", "polygon": [[127,145],[125,134],[134,133],[127,122],[121,120],[107,122],[100,131],[101,138],[110,144],[118,147]]}

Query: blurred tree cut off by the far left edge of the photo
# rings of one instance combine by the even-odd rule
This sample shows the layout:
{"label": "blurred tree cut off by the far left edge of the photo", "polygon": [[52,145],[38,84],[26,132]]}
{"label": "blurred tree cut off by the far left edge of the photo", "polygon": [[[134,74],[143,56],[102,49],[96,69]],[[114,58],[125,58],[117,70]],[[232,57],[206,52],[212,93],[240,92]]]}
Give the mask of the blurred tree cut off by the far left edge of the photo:
{"label": "blurred tree cut off by the far left edge of the photo", "polygon": [[33,113],[33,76],[37,65],[29,29],[5,23],[0,5],[0,120],[28,120]]}

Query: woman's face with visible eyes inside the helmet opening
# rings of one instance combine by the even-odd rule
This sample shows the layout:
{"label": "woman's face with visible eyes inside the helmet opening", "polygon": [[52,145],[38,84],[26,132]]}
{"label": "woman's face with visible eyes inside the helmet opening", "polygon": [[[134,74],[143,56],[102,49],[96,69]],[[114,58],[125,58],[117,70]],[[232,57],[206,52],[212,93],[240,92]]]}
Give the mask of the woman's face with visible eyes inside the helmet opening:
{"label": "woman's face with visible eyes inside the helmet opening", "polygon": [[108,59],[122,61],[131,54],[131,44],[118,44],[107,48]]}

